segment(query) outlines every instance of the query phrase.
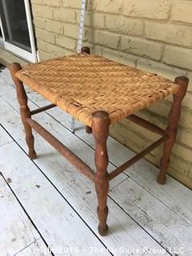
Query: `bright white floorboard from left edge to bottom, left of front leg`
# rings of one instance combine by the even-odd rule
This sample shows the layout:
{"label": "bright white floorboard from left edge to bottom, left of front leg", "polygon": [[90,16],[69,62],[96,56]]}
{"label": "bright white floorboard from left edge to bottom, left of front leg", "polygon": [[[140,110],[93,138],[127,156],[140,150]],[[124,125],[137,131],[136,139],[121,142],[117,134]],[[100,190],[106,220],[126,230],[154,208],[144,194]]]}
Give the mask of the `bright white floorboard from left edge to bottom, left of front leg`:
{"label": "bright white floorboard from left edge to bottom, left of front leg", "polygon": [[[90,255],[90,246],[105,249],[15,142],[1,146],[0,155],[0,168],[4,170],[5,177],[12,180],[10,187],[50,248],[78,247],[85,256]],[[56,251],[54,255],[61,254]],[[102,255],[109,253],[104,250]]]}

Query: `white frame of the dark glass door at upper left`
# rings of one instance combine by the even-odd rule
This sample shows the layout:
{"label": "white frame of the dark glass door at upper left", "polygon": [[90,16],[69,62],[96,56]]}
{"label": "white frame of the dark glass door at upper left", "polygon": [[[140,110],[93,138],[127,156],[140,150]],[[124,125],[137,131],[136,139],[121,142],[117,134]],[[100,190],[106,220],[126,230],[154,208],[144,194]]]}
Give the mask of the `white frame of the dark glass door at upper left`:
{"label": "white frame of the dark glass door at upper left", "polygon": [[[2,2],[4,1],[6,0],[2,0]],[[18,46],[14,46],[10,42],[6,42],[5,34],[3,32],[1,17],[0,17],[0,26],[2,29],[1,41],[3,41],[3,45],[6,50],[9,50],[10,52],[18,55],[19,57],[25,58],[27,61],[37,62],[37,53],[36,53],[36,47],[34,43],[34,31],[33,31],[33,25],[32,25],[32,18],[30,14],[30,2],[29,0],[24,0],[24,3],[25,3],[25,9],[26,9],[26,21],[27,21],[29,35],[30,35],[30,47],[32,52],[30,53],[26,50],[23,50],[22,48],[19,48]]]}

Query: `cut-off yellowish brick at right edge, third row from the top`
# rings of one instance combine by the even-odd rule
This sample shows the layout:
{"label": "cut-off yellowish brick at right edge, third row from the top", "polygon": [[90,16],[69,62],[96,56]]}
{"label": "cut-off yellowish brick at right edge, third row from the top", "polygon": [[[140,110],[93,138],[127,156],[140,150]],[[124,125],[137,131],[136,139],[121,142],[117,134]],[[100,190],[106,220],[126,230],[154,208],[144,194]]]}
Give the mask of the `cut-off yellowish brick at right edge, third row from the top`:
{"label": "cut-off yellowish brick at right edge, third row from the top", "polygon": [[192,49],[166,46],[163,62],[172,66],[192,70]]}

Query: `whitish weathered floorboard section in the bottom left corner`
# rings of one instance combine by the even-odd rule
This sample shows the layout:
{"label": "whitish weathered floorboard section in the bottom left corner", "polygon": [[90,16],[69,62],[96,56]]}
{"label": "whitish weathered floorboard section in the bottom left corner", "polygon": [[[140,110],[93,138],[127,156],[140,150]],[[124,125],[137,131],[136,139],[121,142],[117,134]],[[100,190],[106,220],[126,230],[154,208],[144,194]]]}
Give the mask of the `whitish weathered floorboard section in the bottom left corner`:
{"label": "whitish weathered floorboard section in the bottom left corner", "polygon": [[[0,130],[1,132],[2,130]],[[4,168],[8,168],[8,164]],[[1,168],[2,173],[4,173],[4,168]],[[11,179],[8,179],[8,182],[11,182]],[[22,210],[2,174],[0,174],[0,209],[1,256],[17,254],[18,251],[38,240],[40,236],[37,230]]]}

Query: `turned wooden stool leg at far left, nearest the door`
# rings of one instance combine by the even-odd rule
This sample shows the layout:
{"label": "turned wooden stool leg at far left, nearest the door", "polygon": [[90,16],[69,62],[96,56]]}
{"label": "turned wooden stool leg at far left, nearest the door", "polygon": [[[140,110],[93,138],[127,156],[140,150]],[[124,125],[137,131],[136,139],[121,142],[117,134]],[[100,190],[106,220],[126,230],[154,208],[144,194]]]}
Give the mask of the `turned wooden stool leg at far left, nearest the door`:
{"label": "turned wooden stool leg at far left, nearest the door", "polygon": [[26,91],[24,89],[22,82],[15,76],[15,73],[21,69],[22,67],[18,63],[13,63],[10,65],[10,74],[16,86],[18,103],[20,105],[20,114],[21,114],[23,126],[26,131],[26,143],[29,148],[29,157],[30,159],[34,159],[37,156],[34,151],[34,136],[32,134],[32,130],[30,126],[26,122],[26,118],[30,118],[30,109],[27,106]]}

